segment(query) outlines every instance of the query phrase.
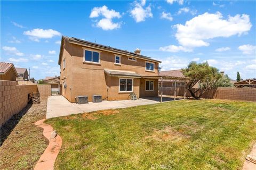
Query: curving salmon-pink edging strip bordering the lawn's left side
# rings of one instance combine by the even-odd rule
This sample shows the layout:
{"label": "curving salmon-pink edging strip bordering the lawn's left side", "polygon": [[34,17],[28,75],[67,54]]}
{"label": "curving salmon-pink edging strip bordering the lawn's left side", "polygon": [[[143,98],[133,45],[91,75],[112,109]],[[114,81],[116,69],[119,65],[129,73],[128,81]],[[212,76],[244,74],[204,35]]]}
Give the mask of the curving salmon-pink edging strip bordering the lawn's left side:
{"label": "curving salmon-pink edging strip bordering the lawn's left side", "polygon": [[57,137],[50,139],[53,128],[51,125],[43,123],[44,121],[45,121],[45,118],[37,121],[35,125],[44,129],[43,134],[44,134],[44,137],[49,140],[49,145],[43,152],[43,155],[41,155],[41,157],[39,158],[34,170],[54,169],[55,160],[62,146],[62,139],[60,135],[57,135]]}

